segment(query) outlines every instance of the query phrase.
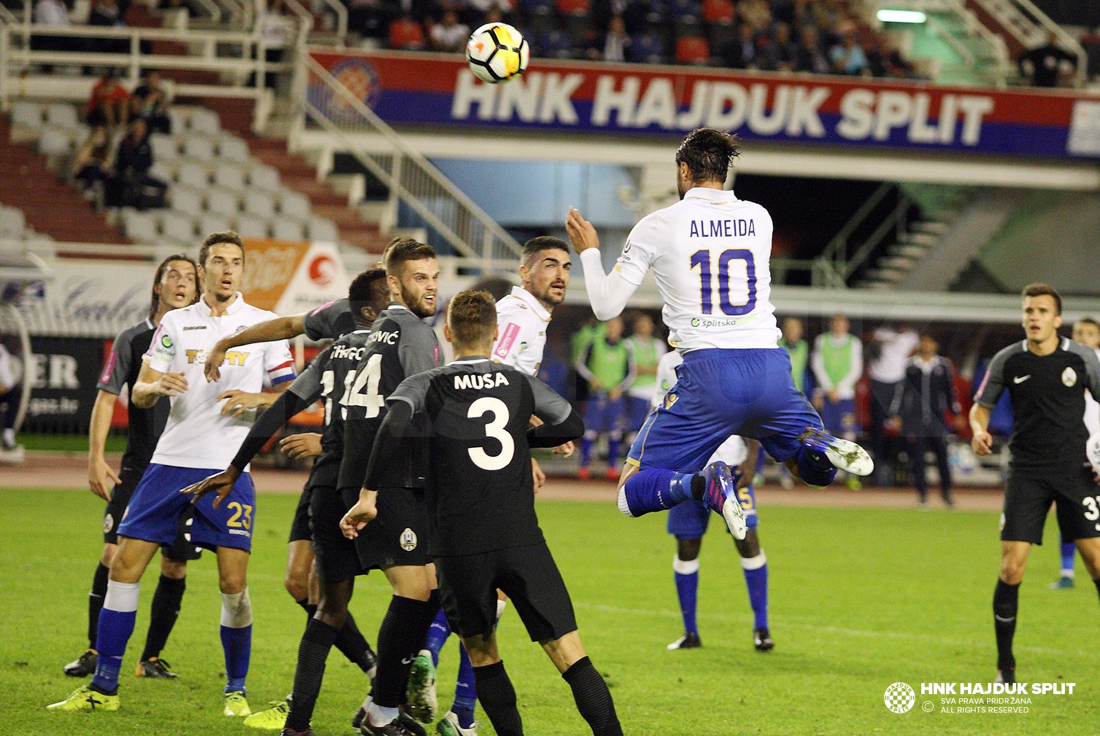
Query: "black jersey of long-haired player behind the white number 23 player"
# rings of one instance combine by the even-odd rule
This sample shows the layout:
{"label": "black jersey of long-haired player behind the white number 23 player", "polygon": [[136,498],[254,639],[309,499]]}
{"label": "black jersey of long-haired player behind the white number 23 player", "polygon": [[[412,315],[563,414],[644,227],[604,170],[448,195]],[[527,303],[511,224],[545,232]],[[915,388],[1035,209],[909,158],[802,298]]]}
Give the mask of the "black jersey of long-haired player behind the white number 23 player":
{"label": "black jersey of long-haired player behind the white number 23 player", "polygon": [[[156,325],[146,318],[119,332],[97,384],[100,391],[118,396],[123,386],[133,389],[141,373],[142,355],[148,350],[155,331]],[[139,408],[130,402],[127,408],[130,428],[127,433],[127,451],[122,455],[122,470],[145,470],[170,410],[172,399],[167,396],[162,396],[147,409]]]}

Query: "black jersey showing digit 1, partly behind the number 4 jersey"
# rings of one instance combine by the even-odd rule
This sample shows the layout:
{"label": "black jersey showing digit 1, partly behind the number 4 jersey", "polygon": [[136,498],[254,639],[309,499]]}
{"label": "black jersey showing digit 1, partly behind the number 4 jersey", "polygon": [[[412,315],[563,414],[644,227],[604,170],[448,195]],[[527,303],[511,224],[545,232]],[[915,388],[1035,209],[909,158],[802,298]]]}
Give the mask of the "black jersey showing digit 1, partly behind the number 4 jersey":
{"label": "black jersey showing digit 1, partly behind the number 4 jersey", "polygon": [[314,359],[287,391],[307,404],[324,399],[321,454],[314,462],[307,486],[337,484],[343,458],[343,426],[348,402],[355,385],[355,369],[366,352],[371,330],[360,328],[344,334]]}

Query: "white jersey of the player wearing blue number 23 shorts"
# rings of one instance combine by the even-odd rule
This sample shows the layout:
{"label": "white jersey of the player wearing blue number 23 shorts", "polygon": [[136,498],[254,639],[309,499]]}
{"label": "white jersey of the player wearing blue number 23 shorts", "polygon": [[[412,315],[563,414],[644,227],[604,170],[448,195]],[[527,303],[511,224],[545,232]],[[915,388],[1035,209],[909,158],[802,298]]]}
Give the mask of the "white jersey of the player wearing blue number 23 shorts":
{"label": "white jersey of the player wearing blue number 23 shorts", "polygon": [[217,400],[218,395],[234,389],[260,393],[265,375],[273,385],[293,381],[294,359],[286,340],[242,345],[226,353],[221,378],[208,383],[202,374],[207,351],[222,338],[275,317],[274,312],[245,304],[238,292],[221,317],[215,317],[206,299],[199,299],[161,319],[145,360],[154,371],[183,372],[187,391],[172,398],[168,422],[151,462],[211,470],[229,466],[256,411],[250,409],[237,418],[223,416],[224,404]]}

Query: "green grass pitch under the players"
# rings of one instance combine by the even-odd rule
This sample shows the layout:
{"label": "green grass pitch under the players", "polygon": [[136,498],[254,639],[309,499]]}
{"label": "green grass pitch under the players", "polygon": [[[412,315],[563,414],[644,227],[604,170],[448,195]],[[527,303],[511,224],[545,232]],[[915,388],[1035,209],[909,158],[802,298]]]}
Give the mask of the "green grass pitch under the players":
{"label": "green grass pitch under the players", "polygon": [[[296,498],[263,495],[250,585],[255,609],[249,701],[260,710],[290,688],[305,615],[283,589],[286,536]],[[191,564],[183,613],[164,651],[182,675],[132,675],[144,642],[156,565],[143,580],[138,626],[123,663],[122,710],[62,714],[44,705],[80,684],[62,666],[85,647],[87,597],[101,550],[102,502],[87,491],[2,490],[0,583],[6,591],[0,688],[10,734],[235,734],[255,732],[221,715],[220,598],[212,556]],[[982,682],[996,674],[991,596],[997,515],[909,509],[763,508],[761,540],[771,582],[774,651],[750,641],[740,564],[719,520],[703,546],[700,634],[704,647],[667,651],[681,634],[664,516],[623,517],[613,505],[542,502],[539,516],[570,587],[581,636],[607,678],[624,733],[733,734],[1096,734],[1100,634],[1097,592],[1078,562],[1078,587],[1049,591],[1057,530],[1037,548],[1020,596],[1019,678],[1075,682],[1072,695],[1031,695],[1027,713],[945,713],[921,682]],[[352,611],[375,639],[389,590],[378,574],[358,581]],[[526,732],[590,733],[570,690],[509,607],[501,649]],[[458,663],[452,639],[439,672],[450,704]],[[883,704],[893,682],[916,706]],[[333,649],[314,728],[350,734],[365,678]],[[932,702],[934,711],[922,710]],[[481,734],[493,734],[479,711]]]}

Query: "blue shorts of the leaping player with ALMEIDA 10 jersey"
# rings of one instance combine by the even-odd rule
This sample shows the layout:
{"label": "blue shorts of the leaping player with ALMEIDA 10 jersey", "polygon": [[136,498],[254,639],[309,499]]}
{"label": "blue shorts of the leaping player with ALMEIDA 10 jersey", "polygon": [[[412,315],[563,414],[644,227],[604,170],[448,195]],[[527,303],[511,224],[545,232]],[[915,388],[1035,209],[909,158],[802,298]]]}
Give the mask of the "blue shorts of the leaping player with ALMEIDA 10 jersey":
{"label": "blue shorts of the leaping player with ALMEIDA 10 jersey", "polygon": [[627,461],[640,468],[697,473],[730,435],[760,440],[778,462],[793,458],[799,436],[821,417],[794,387],[782,348],[693,350],[676,384],[646,419]]}

